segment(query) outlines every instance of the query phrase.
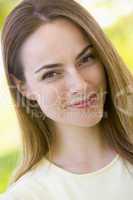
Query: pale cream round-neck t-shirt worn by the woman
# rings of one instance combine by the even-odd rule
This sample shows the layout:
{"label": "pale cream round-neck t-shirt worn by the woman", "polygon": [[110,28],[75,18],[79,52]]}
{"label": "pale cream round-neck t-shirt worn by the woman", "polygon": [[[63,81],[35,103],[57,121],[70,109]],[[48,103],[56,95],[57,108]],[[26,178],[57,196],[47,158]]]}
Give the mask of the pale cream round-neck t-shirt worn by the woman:
{"label": "pale cream round-neck t-shirt worn by the woman", "polygon": [[[127,161],[126,161],[127,162]],[[133,166],[116,157],[103,168],[76,174],[45,158],[11,185],[1,200],[133,200]]]}

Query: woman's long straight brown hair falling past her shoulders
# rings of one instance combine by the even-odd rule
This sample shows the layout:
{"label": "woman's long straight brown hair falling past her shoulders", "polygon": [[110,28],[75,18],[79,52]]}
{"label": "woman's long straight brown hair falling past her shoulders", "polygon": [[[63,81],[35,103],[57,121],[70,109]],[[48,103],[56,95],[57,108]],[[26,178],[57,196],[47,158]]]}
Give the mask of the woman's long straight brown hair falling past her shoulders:
{"label": "woman's long straight brown hair falling past her shoulders", "polygon": [[[39,26],[63,17],[71,20],[87,35],[103,63],[108,83],[102,118],[106,141],[123,160],[133,164],[133,76],[112,43],[91,14],[76,1],[71,0],[24,0],[7,16],[2,31],[2,50],[5,73],[22,130],[22,159],[13,181],[18,180],[51,152],[54,135],[50,132],[39,107],[32,107],[15,87],[10,74],[25,81],[19,62],[19,49],[24,40]],[[130,100],[130,104],[127,103]],[[20,103],[18,106],[18,102]],[[40,113],[33,115],[33,113]]]}

